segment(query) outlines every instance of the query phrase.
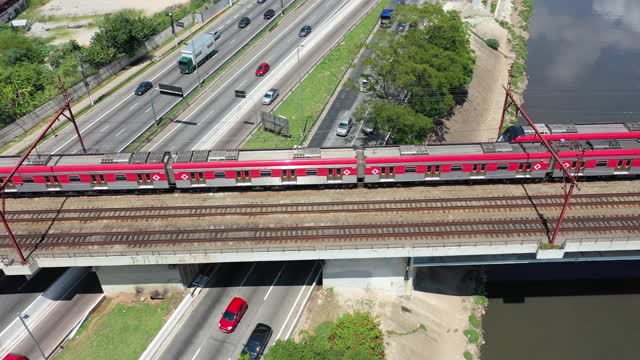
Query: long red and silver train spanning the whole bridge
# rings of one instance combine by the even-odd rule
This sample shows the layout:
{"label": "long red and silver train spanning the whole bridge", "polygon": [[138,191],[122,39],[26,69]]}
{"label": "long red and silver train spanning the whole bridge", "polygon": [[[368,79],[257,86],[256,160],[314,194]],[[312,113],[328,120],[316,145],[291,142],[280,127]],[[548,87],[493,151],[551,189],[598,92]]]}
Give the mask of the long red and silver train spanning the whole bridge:
{"label": "long red and silver train spanning the whole bridge", "polygon": [[[7,192],[322,186],[394,182],[542,179],[640,174],[638,139],[551,141],[561,163],[540,143],[476,143],[365,149],[203,150],[31,156]],[[0,157],[4,181],[18,157]]]}

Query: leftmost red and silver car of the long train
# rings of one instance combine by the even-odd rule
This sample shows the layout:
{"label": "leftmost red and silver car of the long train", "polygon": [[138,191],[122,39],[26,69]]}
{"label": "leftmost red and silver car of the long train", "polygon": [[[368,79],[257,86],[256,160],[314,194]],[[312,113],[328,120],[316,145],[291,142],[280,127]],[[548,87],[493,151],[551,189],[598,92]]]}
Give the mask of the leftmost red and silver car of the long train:
{"label": "leftmost red and silver car of the long train", "polygon": [[[169,153],[29,156],[7,183],[8,192],[167,189]],[[0,157],[0,178],[18,157]]]}

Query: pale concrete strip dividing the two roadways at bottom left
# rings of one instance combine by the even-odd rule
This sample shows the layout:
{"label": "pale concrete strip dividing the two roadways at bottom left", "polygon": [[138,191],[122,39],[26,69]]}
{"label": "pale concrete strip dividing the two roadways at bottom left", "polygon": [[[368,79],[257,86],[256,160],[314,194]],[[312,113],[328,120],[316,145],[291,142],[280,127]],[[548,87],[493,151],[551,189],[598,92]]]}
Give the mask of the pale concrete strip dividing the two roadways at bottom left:
{"label": "pale concrete strip dividing the two roadways at bottom left", "polygon": [[[62,299],[90,270],[88,267],[70,268],[62,274],[42,295],[22,311],[22,314],[29,316],[24,319],[27,326],[30,328],[34,327],[42,320],[55,302]],[[5,329],[2,329],[0,333],[0,357],[4,356],[25,336],[28,336],[27,331],[16,317],[16,319]]]}

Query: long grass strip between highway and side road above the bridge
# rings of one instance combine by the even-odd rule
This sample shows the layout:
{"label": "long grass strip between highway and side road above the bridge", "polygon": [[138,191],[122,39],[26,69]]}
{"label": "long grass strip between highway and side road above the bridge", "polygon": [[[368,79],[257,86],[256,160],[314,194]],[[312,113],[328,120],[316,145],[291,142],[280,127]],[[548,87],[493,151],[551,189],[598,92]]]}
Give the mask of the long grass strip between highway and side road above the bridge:
{"label": "long grass strip between highway and side road above the bridge", "polygon": [[[336,91],[344,73],[364,46],[365,40],[378,21],[380,11],[388,4],[389,0],[379,2],[333,50],[322,58],[320,63],[302,81],[302,90],[296,86],[276,108],[275,114],[289,119],[290,138],[260,129],[243,148],[290,148],[302,143],[304,136],[309,129],[313,128],[329,98]],[[301,91],[304,117],[300,111]]]}

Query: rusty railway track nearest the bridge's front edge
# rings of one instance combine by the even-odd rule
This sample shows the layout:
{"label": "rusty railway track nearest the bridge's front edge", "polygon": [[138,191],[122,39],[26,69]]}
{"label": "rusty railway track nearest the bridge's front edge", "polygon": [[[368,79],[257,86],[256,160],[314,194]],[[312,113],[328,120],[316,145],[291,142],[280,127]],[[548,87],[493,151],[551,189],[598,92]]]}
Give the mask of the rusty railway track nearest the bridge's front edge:
{"label": "rusty railway track nearest the bridge's front edge", "polygon": [[[396,224],[355,224],[332,226],[285,227],[225,227],[219,229],[162,230],[136,232],[86,232],[17,235],[19,244],[26,249],[55,247],[86,247],[131,245],[156,246],[184,243],[260,242],[283,243],[290,241],[331,240],[336,242],[362,239],[450,239],[450,238],[504,238],[513,236],[545,236],[553,230],[556,219],[544,224],[541,220],[504,219],[494,221],[417,222]],[[575,217],[566,218],[563,233],[627,233],[640,232],[637,216]],[[11,247],[6,236],[0,248]]]}

